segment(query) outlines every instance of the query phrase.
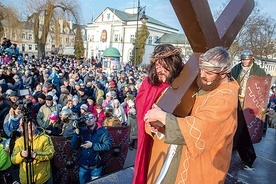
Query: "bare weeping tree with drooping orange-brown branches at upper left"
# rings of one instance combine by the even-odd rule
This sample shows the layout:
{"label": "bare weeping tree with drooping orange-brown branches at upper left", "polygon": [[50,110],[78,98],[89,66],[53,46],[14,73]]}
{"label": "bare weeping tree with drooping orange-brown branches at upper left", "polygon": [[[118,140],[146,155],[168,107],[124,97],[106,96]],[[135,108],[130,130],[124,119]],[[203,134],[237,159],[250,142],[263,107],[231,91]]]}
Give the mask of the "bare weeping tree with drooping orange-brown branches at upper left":
{"label": "bare weeping tree with drooping orange-brown branches at upper left", "polygon": [[[38,57],[45,57],[45,45],[50,31],[59,39],[59,19],[75,22],[79,20],[79,4],[75,0],[29,0],[27,20],[33,26],[34,40],[37,44]],[[55,25],[54,27],[51,25]],[[59,26],[58,26],[59,25]],[[54,30],[51,30],[53,28]]]}

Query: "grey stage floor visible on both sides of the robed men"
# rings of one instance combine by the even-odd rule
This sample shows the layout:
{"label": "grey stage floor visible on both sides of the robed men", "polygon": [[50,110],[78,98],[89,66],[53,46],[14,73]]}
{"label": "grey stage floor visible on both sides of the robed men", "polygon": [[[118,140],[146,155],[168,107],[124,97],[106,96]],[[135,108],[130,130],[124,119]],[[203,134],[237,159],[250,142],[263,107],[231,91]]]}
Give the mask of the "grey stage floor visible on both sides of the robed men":
{"label": "grey stage floor visible on both sides of the robed men", "polygon": [[[276,130],[269,128],[260,143],[254,144],[257,158],[253,168],[245,170],[236,151],[232,154],[226,184],[271,184],[276,183]],[[100,178],[92,183],[97,184],[130,184],[136,151],[129,151],[125,169]]]}

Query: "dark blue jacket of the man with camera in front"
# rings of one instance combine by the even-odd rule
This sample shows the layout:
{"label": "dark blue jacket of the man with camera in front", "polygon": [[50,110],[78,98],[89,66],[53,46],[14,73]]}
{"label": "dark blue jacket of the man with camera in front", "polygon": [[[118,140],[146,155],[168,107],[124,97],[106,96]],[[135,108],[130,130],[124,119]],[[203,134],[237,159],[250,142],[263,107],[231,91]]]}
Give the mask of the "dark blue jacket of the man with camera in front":
{"label": "dark blue jacket of the man with camera in front", "polygon": [[[81,148],[80,145],[85,141],[91,141],[92,147],[89,149]],[[78,164],[87,169],[98,168],[102,165],[100,152],[109,151],[111,148],[110,135],[104,127],[96,127],[90,130],[82,127],[79,134],[74,133],[71,147],[78,150]]]}

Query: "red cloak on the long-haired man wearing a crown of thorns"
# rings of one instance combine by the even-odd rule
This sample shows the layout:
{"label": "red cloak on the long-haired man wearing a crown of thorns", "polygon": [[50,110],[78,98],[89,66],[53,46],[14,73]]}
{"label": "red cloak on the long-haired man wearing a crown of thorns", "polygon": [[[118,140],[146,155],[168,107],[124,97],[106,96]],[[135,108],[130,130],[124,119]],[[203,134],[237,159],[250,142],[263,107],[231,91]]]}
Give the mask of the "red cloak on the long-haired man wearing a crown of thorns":
{"label": "red cloak on the long-haired man wearing a crown of thorns", "polygon": [[147,183],[147,173],[153,139],[145,132],[144,116],[167,87],[168,83],[152,86],[148,82],[148,78],[146,78],[136,97],[138,146],[134,165],[133,184]]}

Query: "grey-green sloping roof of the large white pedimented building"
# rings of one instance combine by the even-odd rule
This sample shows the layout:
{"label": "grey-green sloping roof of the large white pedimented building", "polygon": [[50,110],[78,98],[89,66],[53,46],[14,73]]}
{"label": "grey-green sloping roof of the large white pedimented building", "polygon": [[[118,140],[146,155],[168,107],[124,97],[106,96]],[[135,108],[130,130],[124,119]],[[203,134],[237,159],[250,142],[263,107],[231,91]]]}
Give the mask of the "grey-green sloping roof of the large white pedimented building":
{"label": "grey-green sloping roof of the large white pedimented building", "polygon": [[[117,17],[119,17],[122,21],[137,21],[137,14],[130,14],[130,13],[127,13],[127,12],[124,12],[124,11],[121,11],[121,10],[117,10],[115,8],[110,8],[110,7],[107,7],[106,9],[109,9],[110,11],[112,11]],[[166,28],[169,28],[169,29],[173,29],[175,31],[178,31],[178,29],[175,29],[167,24],[164,24],[163,22],[160,22],[159,20],[156,20],[148,15],[146,15],[147,18],[148,18],[148,23],[151,23],[151,24],[155,24],[155,25],[159,25],[159,26],[162,26],[162,27],[166,27]],[[142,17],[142,13],[139,14],[139,19]]]}

